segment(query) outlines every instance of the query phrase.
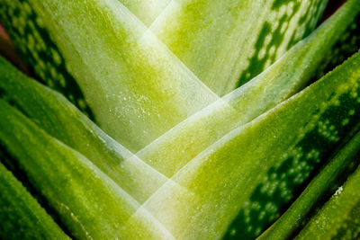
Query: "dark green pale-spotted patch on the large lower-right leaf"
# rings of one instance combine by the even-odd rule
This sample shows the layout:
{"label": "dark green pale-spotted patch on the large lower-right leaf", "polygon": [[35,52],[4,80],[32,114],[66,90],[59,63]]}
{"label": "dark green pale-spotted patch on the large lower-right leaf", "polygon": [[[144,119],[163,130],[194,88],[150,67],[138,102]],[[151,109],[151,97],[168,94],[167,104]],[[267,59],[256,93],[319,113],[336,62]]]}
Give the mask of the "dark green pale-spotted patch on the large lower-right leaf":
{"label": "dark green pale-spotted patch on the large lower-right leaf", "polygon": [[[357,58],[358,56],[359,54],[357,54]],[[353,60],[355,59],[353,58]],[[337,72],[335,72],[332,77],[330,75],[326,78],[330,80],[320,82],[320,84],[330,81],[334,83],[334,78],[337,78],[338,81],[342,81],[344,78],[358,81],[358,65],[352,66],[349,62],[347,64],[347,69],[352,67],[356,69],[354,76],[351,72],[348,73],[348,76],[337,76]],[[323,161],[328,159],[329,152],[359,122],[360,100],[358,94],[360,91],[357,86],[358,83],[351,81],[347,82],[347,87],[339,85],[338,93],[331,93],[334,94],[333,96],[328,95],[323,103],[314,106],[316,109],[305,107],[305,104],[302,105],[303,111],[313,112],[312,120],[303,123],[306,127],[296,131],[297,137],[295,137],[293,146],[285,147],[286,150],[281,155],[279,154],[276,164],[266,170],[266,176],[259,180],[259,184],[249,195],[238,216],[231,223],[227,235],[229,238],[242,235],[244,232],[251,237],[254,230],[255,235],[258,235],[261,233],[261,229],[258,228],[259,225],[266,226],[266,223],[280,217],[280,213],[286,204],[296,196],[296,190],[311,177],[311,172],[314,169],[317,169]],[[345,91],[343,92],[343,90]],[[322,90],[319,92],[324,93]],[[314,102],[315,99],[309,100],[308,104]],[[294,108],[296,109],[296,107]],[[315,112],[319,113],[316,114]],[[304,120],[304,115],[297,117]],[[276,155],[272,153],[269,158],[274,161],[274,156]],[[267,160],[268,156],[265,156],[264,159]],[[260,163],[258,162],[258,164]],[[237,230],[234,231],[234,229]]]}

